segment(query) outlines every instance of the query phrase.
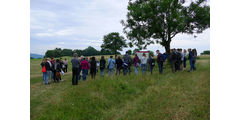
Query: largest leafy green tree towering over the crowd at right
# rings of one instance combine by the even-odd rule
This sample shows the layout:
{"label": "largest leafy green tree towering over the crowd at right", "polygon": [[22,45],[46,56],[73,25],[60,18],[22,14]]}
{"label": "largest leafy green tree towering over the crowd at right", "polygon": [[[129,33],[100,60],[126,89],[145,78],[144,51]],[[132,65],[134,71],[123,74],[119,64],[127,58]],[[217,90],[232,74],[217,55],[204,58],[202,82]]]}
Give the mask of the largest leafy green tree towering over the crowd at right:
{"label": "largest leafy green tree towering over the crowd at right", "polygon": [[[210,27],[210,7],[206,0],[130,0],[127,20],[121,21],[131,44],[146,48],[160,44],[170,53],[172,38],[178,33],[201,33]],[[189,2],[189,1],[188,1]]]}

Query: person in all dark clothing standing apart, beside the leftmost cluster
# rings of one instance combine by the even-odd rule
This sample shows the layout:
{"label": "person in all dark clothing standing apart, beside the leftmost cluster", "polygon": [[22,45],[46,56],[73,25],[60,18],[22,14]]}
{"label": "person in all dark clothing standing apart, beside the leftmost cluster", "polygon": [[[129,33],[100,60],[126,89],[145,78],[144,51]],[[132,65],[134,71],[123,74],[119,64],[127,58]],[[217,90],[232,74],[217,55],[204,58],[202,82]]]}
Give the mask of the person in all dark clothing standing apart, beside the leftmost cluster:
{"label": "person in all dark clothing standing apart, beside the leftmost cluster", "polygon": [[72,63],[72,85],[77,85],[78,84],[78,76],[79,76],[79,66],[80,66],[80,62],[78,60],[77,53],[73,54],[71,63]]}

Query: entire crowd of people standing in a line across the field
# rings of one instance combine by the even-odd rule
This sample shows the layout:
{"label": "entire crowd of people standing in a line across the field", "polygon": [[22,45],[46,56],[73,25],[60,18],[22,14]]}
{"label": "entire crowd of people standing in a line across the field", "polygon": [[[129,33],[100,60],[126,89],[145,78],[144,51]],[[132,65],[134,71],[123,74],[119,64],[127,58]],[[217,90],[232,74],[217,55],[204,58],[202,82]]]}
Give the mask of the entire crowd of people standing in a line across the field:
{"label": "entire crowd of people standing in a line across the field", "polygon": [[[100,70],[100,76],[104,76],[105,71],[108,71],[109,76],[114,74],[120,75],[123,72],[123,75],[127,75],[131,73],[131,66],[134,67],[135,74],[138,74],[139,69],[141,68],[142,74],[146,74],[147,70],[153,74],[153,69],[155,66],[155,62],[157,62],[158,72],[159,74],[163,73],[163,66],[166,62],[167,58],[171,65],[172,72],[183,71],[186,69],[186,61],[189,60],[190,70],[196,70],[196,60],[197,60],[197,51],[196,49],[171,49],[169,56],[166,53],[160,53],[159,50],[156,50],[156,60],[154,58],[154,54],[150,54],[147,57],[146,53],[142,54],[142,57],[139,58],[137,54],[134,55],[132,59],[131,56],[126,52],[125,55],[121,58],[121,56],[117,56],[116,59],[113,59],[113,56],[110,56],[108,60],[105,60],[104,56],[98,61],[95,57],[78,57],[77,53],[74,53],[74,57],[71,60],[72,64],[72,85],[77,85],[79,80],[86,80],[88,71],[90,70],[90,74],[92,79],[95,79],[97,72]],[[188,58],[187,58],[188,56]],[[62,80],[61,74],[67,72],[68,61],[65,58],[63,61],[62,58],[55,60],[52,58],[51,60],[44,58],[41,63],[42,72],[43,72],[43,81],[44,84],[49,84],[48,76],[51,74],[51,79],[58,83]]]}

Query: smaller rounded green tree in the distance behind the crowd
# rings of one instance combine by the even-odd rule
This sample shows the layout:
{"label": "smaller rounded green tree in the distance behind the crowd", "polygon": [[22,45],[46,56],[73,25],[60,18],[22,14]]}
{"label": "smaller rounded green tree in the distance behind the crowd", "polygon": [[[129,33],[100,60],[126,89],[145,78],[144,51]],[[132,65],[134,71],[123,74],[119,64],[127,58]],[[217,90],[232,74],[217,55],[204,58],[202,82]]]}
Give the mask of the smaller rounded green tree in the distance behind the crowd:
{"label": "smaller rounded green tree in the distance behind the crowd", "polygon": [[120,36],[118,32],[112,32],[103,37],[101,48],[113,52],[115,58],[118,51],[122,51],[124,47],[127,47],[126,40],[123,36]]}

